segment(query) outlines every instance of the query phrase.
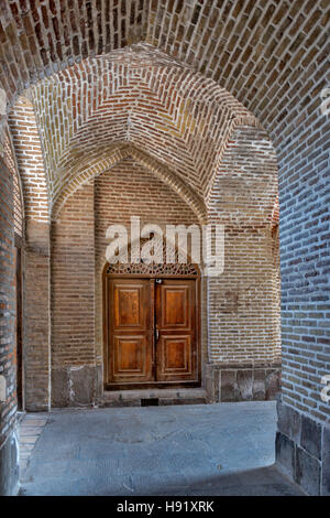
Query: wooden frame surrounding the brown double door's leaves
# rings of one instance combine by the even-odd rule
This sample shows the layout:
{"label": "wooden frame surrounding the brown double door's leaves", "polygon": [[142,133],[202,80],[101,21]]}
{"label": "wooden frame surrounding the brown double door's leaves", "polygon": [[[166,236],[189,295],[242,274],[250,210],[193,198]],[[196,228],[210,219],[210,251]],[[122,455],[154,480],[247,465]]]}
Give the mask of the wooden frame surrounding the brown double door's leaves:
{"label": "wooden frame surrounding the brown double door's leaves", "polygon": [[[200,270],[198,265],[194,265],[196,274],[170,274],[170,273],[108,273],[109,263],[105,265],[102,271],[102,331],[103,331],[103,389],[107,390],[139,390],[147,388],[193,388],[201,386],[201,282]],[[196,381],[151,381],[141,384],[108,384],[108,366],[109,366],[109,350],[110,350],[110,336],[109,336],[109,280],[110,279],[172,279],[172,280],[194,280],[195,281],[195,296],[196,296],[196,349],[197,349],[197,380]],[[153,310],[154,310],[153,298]],[[153,347],[155,347],[153,338]],[[155,368],[155,365],[153,366]]]}

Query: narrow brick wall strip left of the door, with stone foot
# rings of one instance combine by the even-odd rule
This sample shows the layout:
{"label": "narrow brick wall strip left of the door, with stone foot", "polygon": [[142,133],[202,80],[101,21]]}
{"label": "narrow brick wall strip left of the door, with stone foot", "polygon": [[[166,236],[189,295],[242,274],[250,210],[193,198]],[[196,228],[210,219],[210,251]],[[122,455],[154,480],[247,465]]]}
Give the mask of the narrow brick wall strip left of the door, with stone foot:
{"label": "narrow brick wall strip left of the door, with stone foot", "polygon": [[[90,403],[95,355],[94,185],[81,186],[52,225],[52,403]],[[88,386],[82,390],[84,380]],[[79,387],[81,384],[81,387]]]}

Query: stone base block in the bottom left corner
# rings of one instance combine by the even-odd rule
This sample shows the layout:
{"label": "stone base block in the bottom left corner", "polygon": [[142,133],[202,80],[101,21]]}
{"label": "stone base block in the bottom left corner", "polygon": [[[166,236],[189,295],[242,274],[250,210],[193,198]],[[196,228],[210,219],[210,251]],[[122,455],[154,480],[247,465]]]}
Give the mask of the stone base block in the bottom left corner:
{"label": "stone base block in the bottom left corner", "polygon": [[19,444],[13,431],[0,446],[0,496],[16,496],[19,477]]}

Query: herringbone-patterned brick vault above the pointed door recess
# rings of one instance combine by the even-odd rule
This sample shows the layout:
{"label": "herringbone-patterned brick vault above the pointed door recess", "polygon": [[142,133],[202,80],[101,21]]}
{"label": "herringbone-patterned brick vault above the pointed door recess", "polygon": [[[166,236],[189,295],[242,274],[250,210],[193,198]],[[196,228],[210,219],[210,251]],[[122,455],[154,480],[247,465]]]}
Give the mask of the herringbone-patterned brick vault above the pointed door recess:
{"label": "herringbone-patterned brick vault above the pointed door recess", "polygon": [[150,45],[88,58],[32,88],[50,191],[130,143],[199,195],[235,119],[255,118],[217,83]]}

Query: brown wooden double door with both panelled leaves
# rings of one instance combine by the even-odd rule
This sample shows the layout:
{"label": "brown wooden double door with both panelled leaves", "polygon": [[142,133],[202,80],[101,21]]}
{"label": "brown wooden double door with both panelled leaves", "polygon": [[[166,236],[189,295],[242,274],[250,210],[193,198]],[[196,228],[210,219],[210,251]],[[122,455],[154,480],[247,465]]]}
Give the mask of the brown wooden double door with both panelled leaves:
{"label": "brown wooden double door with both panelled leaves", "polygon": [[108,278],[107,388],[196,386],[197,281]]}

